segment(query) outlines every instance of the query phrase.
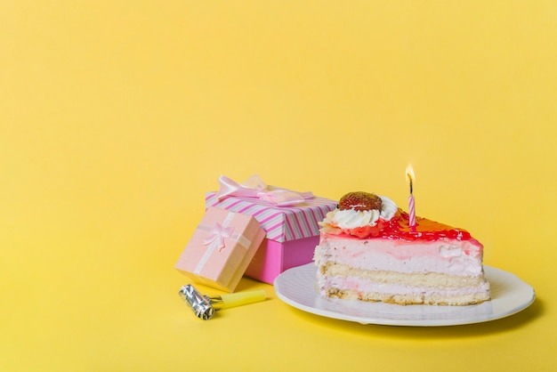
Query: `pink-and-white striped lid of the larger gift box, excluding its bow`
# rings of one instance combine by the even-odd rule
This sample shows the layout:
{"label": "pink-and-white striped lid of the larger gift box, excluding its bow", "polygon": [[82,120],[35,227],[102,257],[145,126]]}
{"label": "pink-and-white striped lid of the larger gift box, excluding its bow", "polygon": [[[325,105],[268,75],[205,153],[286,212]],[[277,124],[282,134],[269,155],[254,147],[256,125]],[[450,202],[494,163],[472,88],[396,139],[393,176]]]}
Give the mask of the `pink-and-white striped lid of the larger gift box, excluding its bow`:
{"label": "pink-and-white striped lid of the larger gift box, excluding its bow", "polygon": [[337,205],[336,200],[319,197],[308,198],[295,206],[275,206],[258,198],[226,197],[219,200],[215,195],[216,192],[206,194],[206,208],[217,206],[252,215],[267,232],[267,239],[279,243],[319,235],[318,222],[323,221],[327,212]]}

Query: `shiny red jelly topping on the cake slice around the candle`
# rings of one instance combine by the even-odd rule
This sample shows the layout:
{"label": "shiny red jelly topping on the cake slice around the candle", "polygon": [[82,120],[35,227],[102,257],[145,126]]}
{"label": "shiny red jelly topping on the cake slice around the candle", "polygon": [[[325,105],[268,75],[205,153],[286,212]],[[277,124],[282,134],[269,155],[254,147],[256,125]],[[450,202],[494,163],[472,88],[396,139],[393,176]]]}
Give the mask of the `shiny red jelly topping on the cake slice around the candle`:
{"label": "shiny red jelly topping on the cake slice around the candle", "polygon": [[470,232],[466,230],[456,229],[444,223],[428,220],[427,218],[416,217],[416,226],[410,227],[408,225],[408,213],[402,209],[399,209],[390,221],[379,219],[375,226],[364,226],[344,232],[359,239],[383,238],[408,241],[434,241],[441,239],[474,240]]}

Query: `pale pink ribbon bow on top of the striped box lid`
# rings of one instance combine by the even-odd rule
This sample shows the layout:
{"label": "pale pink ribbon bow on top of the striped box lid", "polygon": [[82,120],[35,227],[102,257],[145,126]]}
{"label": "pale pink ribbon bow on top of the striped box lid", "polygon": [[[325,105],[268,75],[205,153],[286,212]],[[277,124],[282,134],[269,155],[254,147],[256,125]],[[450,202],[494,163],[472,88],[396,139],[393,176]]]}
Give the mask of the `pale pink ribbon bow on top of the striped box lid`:
{"label": "pale pink ribbon bow on top of the striped box lid", "polygon": [[246,182],[240,184],[222,175],[219,177],[221,189],[216,193],[216,198],[229,196],[259,198],[276,206],[293,206],[300,204],[307,198],[313,198],[311,192],[296,192],[287,189],[273,188],[270,190],[259,175],[252,175]]}

